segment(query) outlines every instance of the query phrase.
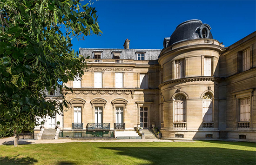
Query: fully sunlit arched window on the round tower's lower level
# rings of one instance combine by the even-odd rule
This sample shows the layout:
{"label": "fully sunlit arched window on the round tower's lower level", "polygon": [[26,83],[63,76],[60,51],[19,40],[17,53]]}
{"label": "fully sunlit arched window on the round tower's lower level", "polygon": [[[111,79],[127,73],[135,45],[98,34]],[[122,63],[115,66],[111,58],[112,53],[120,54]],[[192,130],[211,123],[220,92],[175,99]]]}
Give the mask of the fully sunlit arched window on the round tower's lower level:
{"label": "fully sunlit arched window on the round tower's lower level", "polygon": [[178,94],[174,101],[174,122],[186,122],[186,97]]}

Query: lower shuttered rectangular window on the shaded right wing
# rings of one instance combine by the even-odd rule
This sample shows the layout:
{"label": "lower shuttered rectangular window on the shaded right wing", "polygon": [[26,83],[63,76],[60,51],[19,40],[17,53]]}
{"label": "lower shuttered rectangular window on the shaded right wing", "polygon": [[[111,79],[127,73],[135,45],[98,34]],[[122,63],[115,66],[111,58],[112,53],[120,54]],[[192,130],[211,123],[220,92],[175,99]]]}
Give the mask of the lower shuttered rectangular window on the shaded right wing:
{"label": "lower shuttered rectangular window on the shaded right wing", "polygon": [[240,99],[240,121],[250,121],[250,98]]}

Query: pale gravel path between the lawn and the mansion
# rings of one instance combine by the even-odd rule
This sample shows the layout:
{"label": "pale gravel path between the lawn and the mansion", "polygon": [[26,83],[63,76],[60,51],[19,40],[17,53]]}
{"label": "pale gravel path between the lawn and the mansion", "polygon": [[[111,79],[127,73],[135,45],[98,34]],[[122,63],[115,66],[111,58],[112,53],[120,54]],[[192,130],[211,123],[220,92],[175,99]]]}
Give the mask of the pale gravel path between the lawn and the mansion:
{"label": "pale gravel path between the lawn and the mansion", "polygon": [[[173,141],[161,140],[161,139],[120,139],[120,140],[57,139],[57,140],[19,140],[19,145],[41,144],[41,143],[70,143],[70,142],[173,142]],[[0,139],[0,145],[13,145],[13,137]]]}

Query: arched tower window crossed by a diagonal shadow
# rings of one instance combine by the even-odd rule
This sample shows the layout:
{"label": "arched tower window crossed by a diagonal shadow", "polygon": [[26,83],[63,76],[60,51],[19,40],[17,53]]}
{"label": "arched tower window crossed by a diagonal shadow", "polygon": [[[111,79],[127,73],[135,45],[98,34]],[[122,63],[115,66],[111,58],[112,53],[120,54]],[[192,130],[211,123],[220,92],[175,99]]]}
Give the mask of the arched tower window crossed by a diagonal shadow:
{"label": "arched tower window crossed by a diagonal shadow", "polygon": [[209,93],[202,97],[202,121],[212,122],[212,98]]}

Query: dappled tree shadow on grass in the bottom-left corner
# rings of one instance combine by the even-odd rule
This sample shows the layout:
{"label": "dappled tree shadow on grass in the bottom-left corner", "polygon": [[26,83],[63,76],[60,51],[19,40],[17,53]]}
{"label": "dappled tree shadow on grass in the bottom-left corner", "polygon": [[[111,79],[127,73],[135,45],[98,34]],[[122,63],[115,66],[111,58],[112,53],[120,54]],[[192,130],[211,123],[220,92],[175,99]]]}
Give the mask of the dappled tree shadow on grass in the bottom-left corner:
{"label": "dappled tree shadow on grass in the bottom-left corner", "polygon": [[20,155],[14,157],[1,157],[1,165],[34,165],[38,160],[30,157],[19,158]]}

